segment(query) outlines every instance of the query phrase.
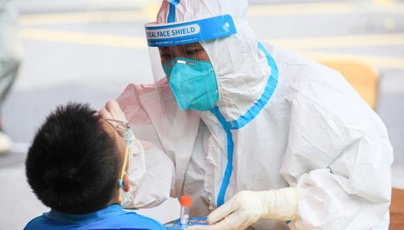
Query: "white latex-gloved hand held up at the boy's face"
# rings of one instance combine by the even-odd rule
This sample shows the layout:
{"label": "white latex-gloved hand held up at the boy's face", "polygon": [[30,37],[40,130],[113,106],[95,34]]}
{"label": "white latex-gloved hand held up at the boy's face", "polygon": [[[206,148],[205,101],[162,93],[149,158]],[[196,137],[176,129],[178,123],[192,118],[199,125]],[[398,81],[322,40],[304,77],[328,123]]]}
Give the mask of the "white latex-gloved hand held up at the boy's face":
{"label": "white latex-gloved hand held up at the boy's face", "polygon": [[[119,107],[118,102],[114,100],[110,100],[105,104],[105,107],[98,112],[98,115],[104,119],[114,119],[116,121],[123,121],[127,123],[127,119],[125,114],[122,112],[121,107]],[[121,123],[117,123],[115,121],[109,121],[111,125],[114,125],[114,128],[118,131],[119,135],[126,141],[127,137],[127,127],[122,125]],[[134,141],[134,135],[131,132],[129,137],[130,144]]]}

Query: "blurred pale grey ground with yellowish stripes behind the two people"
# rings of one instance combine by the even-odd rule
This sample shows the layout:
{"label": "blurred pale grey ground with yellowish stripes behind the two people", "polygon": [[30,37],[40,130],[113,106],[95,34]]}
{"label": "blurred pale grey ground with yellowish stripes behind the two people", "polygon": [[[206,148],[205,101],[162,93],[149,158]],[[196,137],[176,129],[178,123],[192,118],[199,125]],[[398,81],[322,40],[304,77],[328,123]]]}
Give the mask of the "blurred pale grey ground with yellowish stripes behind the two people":
{"label": "blurred pale grey ground with yellowish stripes behind the two people", "polygon": [[[56,105],[72,100],[100,109],[130,82],[153,81],[143,24],[155,20],[161,2],[13,1],[22,65],[1,109],[13,146],[0,155],[0,229],[22,229],[48,210],[26,183],[24,159]],[[248,19],[261,40],[311,59],[357,60],[378,70],[376,111],[394,146],[393,185],[404,188],[404,1],[249,2]],[[166,222],[179,208],[171,199],[139,213]]]}

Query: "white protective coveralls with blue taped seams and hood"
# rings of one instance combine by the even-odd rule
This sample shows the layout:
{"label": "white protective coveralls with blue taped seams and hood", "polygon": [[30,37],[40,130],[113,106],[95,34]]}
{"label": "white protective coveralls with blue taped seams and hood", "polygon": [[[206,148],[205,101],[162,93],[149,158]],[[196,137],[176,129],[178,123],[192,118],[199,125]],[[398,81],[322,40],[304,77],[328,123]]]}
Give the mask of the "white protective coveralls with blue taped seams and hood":
{"label": "white protective coveralls with blue taped seams and hood", "polygon": [[217,77],[217,107],[181,111],[166,84],[177,137],[162,132],[154,85],[130,84],[117,99],[148,158],[133,205],[155,206],[171,190],[171,197],[193,197],[191,216],[207,216],[236,192],[295,186],[297,220],[251,227],[387,229],[387,130],[339,72],[279,47],[258,47],[244,19],[246,0],[164,0],[158,23],[167,23],[170,4],[175,22],[229,14],[237,33],[201,42]]}

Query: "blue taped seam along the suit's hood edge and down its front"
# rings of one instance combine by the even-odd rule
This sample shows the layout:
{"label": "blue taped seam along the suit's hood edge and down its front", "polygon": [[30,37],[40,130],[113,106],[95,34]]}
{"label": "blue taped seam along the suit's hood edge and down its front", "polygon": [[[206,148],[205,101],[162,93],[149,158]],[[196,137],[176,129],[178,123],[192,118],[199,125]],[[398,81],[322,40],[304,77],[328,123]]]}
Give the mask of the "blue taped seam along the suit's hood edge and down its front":
{"label": "blue taped seam along the suit's hood edge and down its front", "polygon": [[265,47],[261,43],[258,43],[258,48],[261,49],[262,52],[264,52],[267,58],[267,63],[271,67],[271,75],[267,81],[267,86],[265,86],[265,90],[261,95],[261,98],[256,103],[254,103],[254,105],[251,106],[244,115],[240,116],[240,118],[235,121],[226,121],[226,118],[224,118],[223,114],[219,110],[219,107],[217,106],[213,107],[213,109],[210,110],[210,112],[212,112],[212,114],[216,116],[217,120],[222,125],[222,128],[227,135],[227,164],[224,171],[222,185],[220,186],[219,194],[217,195],[217,207],[224,204],[224,196],[226,195],[226,190],[228,184],[230,183],[231,174],[233,172],[234,142],[231,130],[238,130],[252,121],[261,112],[263,107],[265,107],[267,102],[272,97],[275,89],[277,88],[279,75],[277,64],[275,63],[274,59],[267,51],[267,49],[265,49]]}

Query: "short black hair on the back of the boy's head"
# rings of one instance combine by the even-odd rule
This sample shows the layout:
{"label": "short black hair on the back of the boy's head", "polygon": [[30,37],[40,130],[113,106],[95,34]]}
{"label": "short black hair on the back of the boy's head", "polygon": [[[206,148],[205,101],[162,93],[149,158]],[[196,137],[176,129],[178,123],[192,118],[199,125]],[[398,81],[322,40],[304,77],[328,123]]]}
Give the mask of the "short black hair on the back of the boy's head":
{"label": "short black hair on the back of the boy's head", "polygon": [[95,113],[78,103],[57,107],[29,148],[26,178],[53,210],[90,213],[107,206],[118,189],[121,153]]}

